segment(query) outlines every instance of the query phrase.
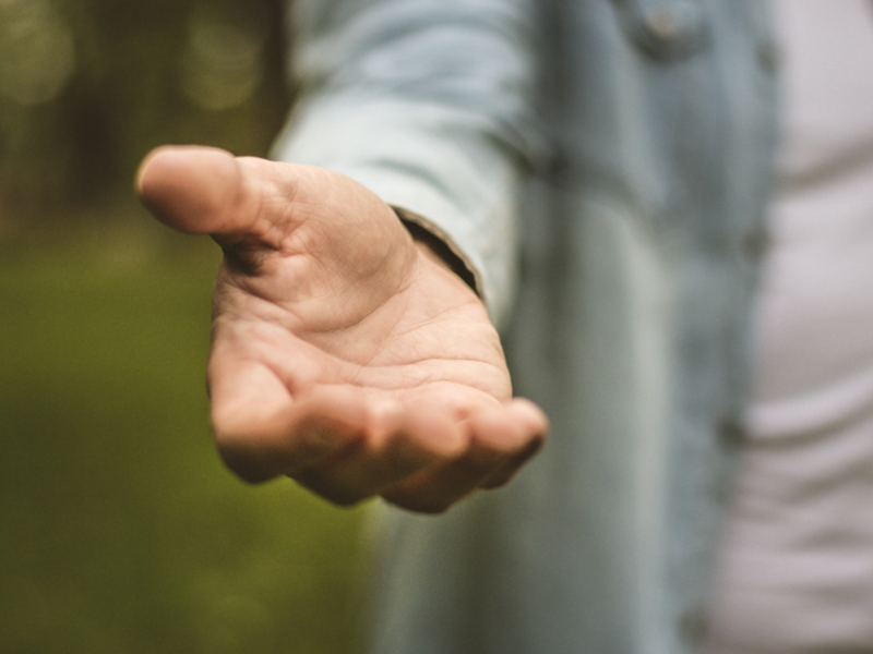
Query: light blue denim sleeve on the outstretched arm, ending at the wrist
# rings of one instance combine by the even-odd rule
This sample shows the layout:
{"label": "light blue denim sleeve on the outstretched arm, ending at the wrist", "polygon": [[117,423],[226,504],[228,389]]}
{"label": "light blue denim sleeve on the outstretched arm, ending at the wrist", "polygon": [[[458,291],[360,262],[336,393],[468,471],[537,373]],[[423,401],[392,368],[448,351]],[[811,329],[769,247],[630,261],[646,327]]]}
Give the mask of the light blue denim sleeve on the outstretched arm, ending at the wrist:
{"label": "light blue denim sleeve on the outstretched arm, ending at the wrist", "polygon": [[541,156],[535,0],[295,0],[300,95],[274,157],[338,170],[419,217],[512,295],[518,195]]}

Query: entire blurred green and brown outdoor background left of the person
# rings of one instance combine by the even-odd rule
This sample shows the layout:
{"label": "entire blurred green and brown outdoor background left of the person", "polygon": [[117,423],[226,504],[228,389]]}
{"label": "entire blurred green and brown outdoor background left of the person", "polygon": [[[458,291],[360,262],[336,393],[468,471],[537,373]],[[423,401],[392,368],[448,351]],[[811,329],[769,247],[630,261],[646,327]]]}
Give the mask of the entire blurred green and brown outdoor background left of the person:
{"label": "entire blurred green and brown outdoor background left of the person", "polygon": [[218,252],[139,206],[163,143],[264,155],[277,0],[0,0],[0,652],[354,650],[362,510],[218,461]]}

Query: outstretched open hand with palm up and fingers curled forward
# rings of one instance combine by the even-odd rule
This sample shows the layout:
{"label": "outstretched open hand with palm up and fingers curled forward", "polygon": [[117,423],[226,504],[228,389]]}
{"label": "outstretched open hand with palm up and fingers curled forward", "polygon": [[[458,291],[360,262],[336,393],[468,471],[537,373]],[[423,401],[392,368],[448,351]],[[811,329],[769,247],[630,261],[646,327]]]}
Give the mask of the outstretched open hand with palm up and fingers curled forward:
{"label": "outstretched open hand with palm up and fingers curled forward", "polygon": [[218,449],[244,480],[439,512],[542,444],[478,296],[364,186],[187,146],[150,154],[137,189],[224,251],[207,382]]}

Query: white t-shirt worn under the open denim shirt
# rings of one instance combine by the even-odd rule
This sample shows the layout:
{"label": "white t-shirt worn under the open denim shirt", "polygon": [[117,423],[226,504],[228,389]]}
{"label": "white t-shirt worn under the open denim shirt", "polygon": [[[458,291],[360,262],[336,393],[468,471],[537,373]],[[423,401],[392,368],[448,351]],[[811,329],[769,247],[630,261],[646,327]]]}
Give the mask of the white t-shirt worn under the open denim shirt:
{"label": "white t-shirt worn under the open denim shirt", "polygon": [[773,246],[709,650],[873,652],[873,3],[776,12]]}

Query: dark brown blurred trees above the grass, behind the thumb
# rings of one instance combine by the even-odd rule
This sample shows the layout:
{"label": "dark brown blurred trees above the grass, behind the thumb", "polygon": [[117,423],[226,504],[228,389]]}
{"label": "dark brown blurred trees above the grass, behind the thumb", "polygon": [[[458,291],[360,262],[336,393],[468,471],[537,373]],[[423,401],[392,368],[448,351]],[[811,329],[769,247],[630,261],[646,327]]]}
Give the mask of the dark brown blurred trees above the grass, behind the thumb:
{"label": "dark brown blurred trees above the grass, behind the thumb", "polygon": [[0,223],[129,193],[162,143],[265,154],[290,101],[284,4],[0,2]]}

